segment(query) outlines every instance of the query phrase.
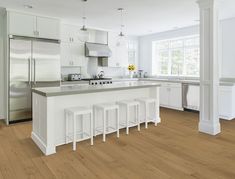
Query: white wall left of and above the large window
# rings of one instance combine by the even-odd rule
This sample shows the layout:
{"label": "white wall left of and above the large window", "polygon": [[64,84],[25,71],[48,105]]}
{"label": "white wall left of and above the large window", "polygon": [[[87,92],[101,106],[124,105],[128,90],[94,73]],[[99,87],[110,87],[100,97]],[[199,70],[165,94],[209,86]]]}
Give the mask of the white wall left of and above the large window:
{"label": "white wall left of and above the large window", "polygon": [[157,40],[176,38],[180,36],[199,34],[199,27],[192,26],[177,30],[151,34],[139,37],[139,68],[152,75],[152,42]]}

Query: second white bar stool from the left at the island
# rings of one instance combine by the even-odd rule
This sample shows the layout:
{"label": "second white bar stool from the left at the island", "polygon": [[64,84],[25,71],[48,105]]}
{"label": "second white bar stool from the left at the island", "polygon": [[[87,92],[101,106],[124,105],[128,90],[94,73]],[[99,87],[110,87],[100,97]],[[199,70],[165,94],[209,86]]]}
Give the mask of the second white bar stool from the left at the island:
{"label": "second white bar stool from the left at the island", "polygon": [[[103,115],[103,126],[102,126],[102,131],[96,127],[96,122],[97,122],[97,112],[98,110],[102,111]],[[116,112],[116,128],[109,126],[108,125],[108,120],[107,119],[107,113],[114,110]],[[106,134],[109,132],[109,129],[112,129],[114,131],[117,131],[117,137],[119,138],[119,106],[117,104],[110,104],[110,103],[103,103],[103,104],[97,104],[94,105],[94,134],[96,136],[96,132],[103,132],[103,142],[106,141]],[[111,132],[109,132],[111,133]]]}

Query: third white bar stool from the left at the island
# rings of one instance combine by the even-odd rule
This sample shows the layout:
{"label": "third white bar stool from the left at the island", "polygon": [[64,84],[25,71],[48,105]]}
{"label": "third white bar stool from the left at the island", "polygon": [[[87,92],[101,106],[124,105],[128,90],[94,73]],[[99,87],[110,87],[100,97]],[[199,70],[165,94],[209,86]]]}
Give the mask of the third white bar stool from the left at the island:
{"label": "third white bar stool from the left at the island", "polygon": [[[134,100],[123,100],[118,101],[117,104],[121,107],[125,107],[126,109],[126,134],[129,134],[129,127],[137,126],[138,131],[140,131],[140,103]],[[135,121],[130,121],[130,109],[131,107],[135,110]]]}

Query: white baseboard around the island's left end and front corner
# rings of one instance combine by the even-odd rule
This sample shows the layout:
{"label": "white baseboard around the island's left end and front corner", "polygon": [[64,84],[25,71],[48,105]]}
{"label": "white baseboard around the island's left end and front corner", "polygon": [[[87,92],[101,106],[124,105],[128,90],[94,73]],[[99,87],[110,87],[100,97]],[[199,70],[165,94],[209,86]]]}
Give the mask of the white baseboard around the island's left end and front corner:
{"label": "white baseboard around the island's left end and front corner", "polygon": [[31,133],[31,138],[45,155],[51,155],[56,153],[55,147],[47,147],[34,132]]}

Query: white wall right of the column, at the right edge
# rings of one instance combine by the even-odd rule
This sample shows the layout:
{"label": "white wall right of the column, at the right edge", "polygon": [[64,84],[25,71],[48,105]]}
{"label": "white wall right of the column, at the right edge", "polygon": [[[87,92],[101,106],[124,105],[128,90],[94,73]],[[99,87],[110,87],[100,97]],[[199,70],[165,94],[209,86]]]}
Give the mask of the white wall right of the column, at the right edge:
{"label": "white wall right of the column, at the right edge", "polygon": [[235,78],[235,18],[221,22],[221,77]]}

